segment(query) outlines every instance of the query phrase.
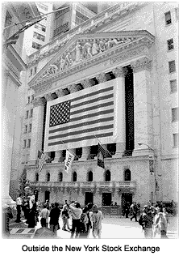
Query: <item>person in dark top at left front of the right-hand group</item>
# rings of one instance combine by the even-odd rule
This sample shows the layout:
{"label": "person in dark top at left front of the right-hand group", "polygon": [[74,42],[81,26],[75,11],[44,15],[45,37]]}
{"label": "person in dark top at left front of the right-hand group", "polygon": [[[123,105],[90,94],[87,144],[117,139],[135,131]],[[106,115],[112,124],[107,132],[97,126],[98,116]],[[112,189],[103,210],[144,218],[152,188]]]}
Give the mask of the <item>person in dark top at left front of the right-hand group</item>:
{"label": "person in dark top at left front of the right-hand group", "polygon": [[143,230],[144,230],[144,237],[145,238],[152,238],[152,225],[153,225],[153,214],[152,210],[149,210],[148,206],[145,206],[143,215]]}

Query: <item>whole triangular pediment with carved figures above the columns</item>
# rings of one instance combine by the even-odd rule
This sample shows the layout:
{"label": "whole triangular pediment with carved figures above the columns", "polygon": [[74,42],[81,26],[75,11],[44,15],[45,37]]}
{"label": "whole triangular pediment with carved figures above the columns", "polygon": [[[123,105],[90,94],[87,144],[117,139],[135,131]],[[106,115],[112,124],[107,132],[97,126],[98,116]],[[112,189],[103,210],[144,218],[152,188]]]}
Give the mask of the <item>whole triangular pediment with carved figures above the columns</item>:
{"label": "whole triangular pediment with carved figures above the columns", "polygon": [[[80,64],[93,61],[95,58],[127,45],[138,43],[138,41],[147,41],[152,45],[154,36],[144,30],[123,31],[123,32],[98,32],[88,34],[77,34],[73,36],[64,47],[58,50],[53,58],[35,75],[28,83],[31,87],[37,83],[43,83],[56,76],[62,77],[62,73],[70,69],[76,69]],[[95,65],[95,64],[94,64]],[[79,70],[79,68],[78,68]]]}

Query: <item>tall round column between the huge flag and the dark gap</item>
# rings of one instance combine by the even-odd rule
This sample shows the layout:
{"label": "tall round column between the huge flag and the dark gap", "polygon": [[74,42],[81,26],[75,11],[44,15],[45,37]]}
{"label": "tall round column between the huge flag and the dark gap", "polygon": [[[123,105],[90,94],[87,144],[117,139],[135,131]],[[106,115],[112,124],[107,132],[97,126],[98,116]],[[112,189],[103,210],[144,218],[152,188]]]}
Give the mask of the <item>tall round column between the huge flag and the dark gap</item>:
{"label": "tall round column between the huge flag and the dark gap", "polygon": [[[126,149],[126,129],[125,129],[125,75],[122,66],[118,66],[112,70],[115,75],[115,81],[119,87],[120,95],[117,97],[118,104],[118,133],[119,141],[116,143],[116,151],[113,158],[122,157]],[[120,125],[119,125],[120,122]]]}

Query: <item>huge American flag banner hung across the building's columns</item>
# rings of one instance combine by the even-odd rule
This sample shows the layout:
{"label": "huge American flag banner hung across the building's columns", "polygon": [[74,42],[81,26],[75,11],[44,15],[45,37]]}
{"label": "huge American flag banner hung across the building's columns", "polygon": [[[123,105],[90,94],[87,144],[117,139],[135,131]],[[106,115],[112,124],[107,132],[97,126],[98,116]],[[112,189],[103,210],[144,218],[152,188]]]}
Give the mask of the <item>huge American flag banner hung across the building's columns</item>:
{"label": "huge American flag banner hung across the building's columns", "polygon": [[[122,140],[123,86],[114,79],[48,102],[44,151]],[[119,116],[119,114],[121,116]]]}

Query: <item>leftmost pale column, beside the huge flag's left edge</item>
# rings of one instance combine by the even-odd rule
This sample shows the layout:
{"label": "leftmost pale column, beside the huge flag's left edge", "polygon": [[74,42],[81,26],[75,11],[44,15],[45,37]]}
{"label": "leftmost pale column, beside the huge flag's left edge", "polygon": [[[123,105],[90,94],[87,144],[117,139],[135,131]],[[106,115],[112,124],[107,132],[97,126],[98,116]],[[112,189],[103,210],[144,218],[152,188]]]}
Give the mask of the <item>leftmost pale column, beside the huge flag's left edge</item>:
{"label": "leftmost pale column, beside the huge flag's left edge", "polygon": [[44,129],[44,98],[35,98],[32,117],[31,150],[29,164],[35,164],[38,151],[42,149]]}

